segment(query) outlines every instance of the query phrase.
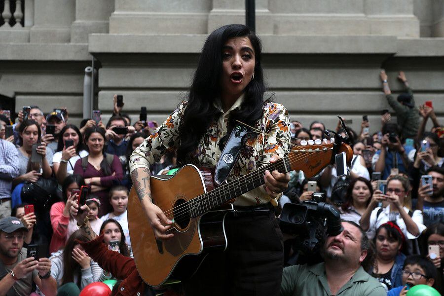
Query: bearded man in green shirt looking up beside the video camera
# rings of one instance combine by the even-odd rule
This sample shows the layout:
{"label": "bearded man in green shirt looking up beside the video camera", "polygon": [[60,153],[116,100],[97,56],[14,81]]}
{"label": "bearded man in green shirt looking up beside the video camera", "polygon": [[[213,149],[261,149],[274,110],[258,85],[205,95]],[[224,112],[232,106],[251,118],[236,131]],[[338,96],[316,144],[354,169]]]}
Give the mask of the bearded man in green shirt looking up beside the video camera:
{"label": "bearded man in green shirt looking up beside the video camera", "polygon": [[[371,264],[373,250],[366,233],[354,222],[326,239],[325,262],[284,268],[281,296],[386,296],[381,284],[363,266]],[[367,259],[367,260],[366,260]]]}

